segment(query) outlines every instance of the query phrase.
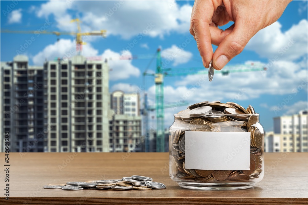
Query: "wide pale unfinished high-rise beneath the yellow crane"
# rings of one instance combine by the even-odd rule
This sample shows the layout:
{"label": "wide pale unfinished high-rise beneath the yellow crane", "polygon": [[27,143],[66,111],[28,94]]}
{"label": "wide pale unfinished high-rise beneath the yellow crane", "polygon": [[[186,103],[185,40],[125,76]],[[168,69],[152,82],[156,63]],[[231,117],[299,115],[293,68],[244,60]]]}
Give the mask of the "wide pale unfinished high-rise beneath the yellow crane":
{"label": "wide pale unfinished high-rise beneath the yellow crane", "polygon": [[44,63],[45,151],[108,152],[108,65],[73,56]]}

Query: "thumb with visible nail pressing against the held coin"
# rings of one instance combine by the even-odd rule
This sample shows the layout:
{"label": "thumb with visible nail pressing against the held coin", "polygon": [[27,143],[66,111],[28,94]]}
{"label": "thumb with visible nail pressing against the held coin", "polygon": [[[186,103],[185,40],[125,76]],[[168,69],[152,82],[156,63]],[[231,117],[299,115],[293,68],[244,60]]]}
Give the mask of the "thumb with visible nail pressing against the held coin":
{"label": "thumb with visible nail pressing against the held coin", "polygon": [[213,66],[221,70],[233,57],[240,54],[256,33],[249,24],[237,22],[232,32],[225,36],[213,54]]}

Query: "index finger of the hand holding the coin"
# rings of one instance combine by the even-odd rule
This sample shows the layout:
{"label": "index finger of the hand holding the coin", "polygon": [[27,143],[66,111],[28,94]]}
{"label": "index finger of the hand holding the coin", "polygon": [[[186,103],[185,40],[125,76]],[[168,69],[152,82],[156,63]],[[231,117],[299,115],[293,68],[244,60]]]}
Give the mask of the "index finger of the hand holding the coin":
{"label": "index finger of the hand holding the coin", "polygon": [[213,47],[209,25],[212,21],[214,6],[211,1],[195,1],[190,19],[190,30],[197,41],[203,66],[208,67],[213,58]]}

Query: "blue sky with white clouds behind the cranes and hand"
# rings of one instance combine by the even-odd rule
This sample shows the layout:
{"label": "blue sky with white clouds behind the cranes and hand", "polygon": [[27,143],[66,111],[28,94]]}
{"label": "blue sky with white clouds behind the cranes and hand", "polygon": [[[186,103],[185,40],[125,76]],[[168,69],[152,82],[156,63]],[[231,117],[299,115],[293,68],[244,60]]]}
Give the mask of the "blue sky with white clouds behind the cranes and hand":
{"label": "blue sky with white clouds behind the cranes and hand", "polygon": [[[153,105],[154,79],[143,80],[142,73],[145,69],[155,70],[156,61],[143,59],[145,54],[154,55],[161,48],[165,57],[175,53],[166,67],[202,66],[196,42],[188,31],[192,6],[193,1],[20,1],[14,6],[12,1],[1,1],[1,30],[76,31],[76,24],[70,23],[74,18],[81,19],[82,31],[106,29],[107,38],[84,39],[87,45],[83,46],[83,54],[112,59],[110,91],[144,89]],[[183,44],[185,41],[188,44]],[[179,51],[180,45],[184,47]],[[20,51],[29,57],[30,64],[43,65],[45,58],[63,58],[72,49],[75,50],[73,36],[1,34],[1,61],[11,61]],[[140,59],[119,60],[120,54]],[[277,60],[271,63],[275,56]],[[213,82],[200,84],[196,82],[206,76],[166,77],[165,102],[187,98],[189,104],[208,100],[233,100],[244,107],[251,104],[260,113],[266,131],[273,129],[273,117],[307,109],[307,1],[291,2],[278,22],[256,34],[228,65],[247,62],[264,63],[268,70],[228,76],[217,73]],[[183,109],[166,109],[165,125],[171,125],[173,113]]]}

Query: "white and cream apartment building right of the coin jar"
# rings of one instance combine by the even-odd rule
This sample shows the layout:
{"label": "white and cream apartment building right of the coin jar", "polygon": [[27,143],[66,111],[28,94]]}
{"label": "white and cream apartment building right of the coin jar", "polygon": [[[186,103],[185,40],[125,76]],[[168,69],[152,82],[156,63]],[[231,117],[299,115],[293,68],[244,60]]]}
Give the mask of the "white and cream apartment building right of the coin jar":
{"label": "white and cream apartment building right of the coin jar", "polygon": [[307,110],[274,118],[274,132],[266,133],[268,152],[307,152]]}

